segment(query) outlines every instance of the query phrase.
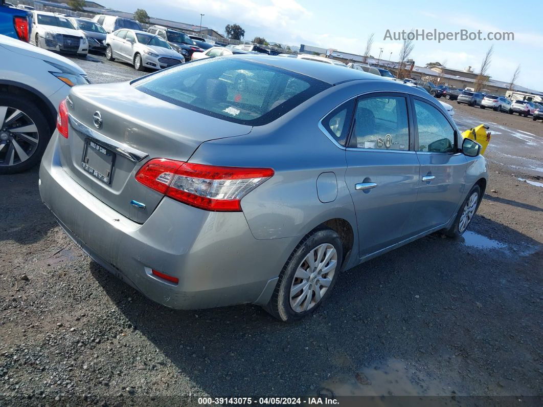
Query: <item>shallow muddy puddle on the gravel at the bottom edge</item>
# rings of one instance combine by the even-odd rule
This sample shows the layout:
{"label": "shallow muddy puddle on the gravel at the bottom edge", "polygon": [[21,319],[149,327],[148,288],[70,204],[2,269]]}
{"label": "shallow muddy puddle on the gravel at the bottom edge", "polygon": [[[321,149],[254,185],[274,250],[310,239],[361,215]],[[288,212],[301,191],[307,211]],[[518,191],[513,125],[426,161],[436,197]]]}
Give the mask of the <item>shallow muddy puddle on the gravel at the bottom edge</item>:
{"label": "shallow muddy puddle on the gravel at the bottom edge", "polygon": [[318,394],[342,396],[450,396],[458,389],[433,378],[424,368],[401,360],[389,360],[363,368],[353,375],[331,378],[321,383]]}

